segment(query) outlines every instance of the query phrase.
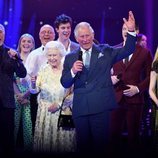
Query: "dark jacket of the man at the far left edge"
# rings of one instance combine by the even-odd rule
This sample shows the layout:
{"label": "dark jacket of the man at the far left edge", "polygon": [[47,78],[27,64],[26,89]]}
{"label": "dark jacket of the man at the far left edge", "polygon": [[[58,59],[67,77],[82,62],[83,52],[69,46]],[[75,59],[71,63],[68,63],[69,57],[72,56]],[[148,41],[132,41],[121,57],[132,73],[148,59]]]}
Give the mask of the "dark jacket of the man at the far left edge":
{"label": "dark jacket of the man at the far left edge", "polygon": [[9,57],[9,49],[5,45],[0,46],[0,107],[15,108],[14,73],[23,78],[26,76],[26,69],[21,61]]}

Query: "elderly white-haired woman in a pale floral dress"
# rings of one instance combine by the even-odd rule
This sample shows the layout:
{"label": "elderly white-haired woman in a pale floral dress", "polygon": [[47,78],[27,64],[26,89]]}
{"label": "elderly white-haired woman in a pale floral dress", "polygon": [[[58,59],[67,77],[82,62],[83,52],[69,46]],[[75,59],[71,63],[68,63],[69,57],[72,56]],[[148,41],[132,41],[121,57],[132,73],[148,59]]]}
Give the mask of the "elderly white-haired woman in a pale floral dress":
{"label": "elderly white-haired woman in a pale floral dress", "polygon": [[[60,84],[63,69],[64,48],[57,41],[48,42],[45,46],[48,59],[38,73],[36,89],[38,110],[34,133],[34,151],[44,153],[75,152],[75,130],[57,128],[62,100],[70,89]],[[66,101],[66,107],[72,106],[72,97]],[[66,110],[68,112],[68,110]]]}

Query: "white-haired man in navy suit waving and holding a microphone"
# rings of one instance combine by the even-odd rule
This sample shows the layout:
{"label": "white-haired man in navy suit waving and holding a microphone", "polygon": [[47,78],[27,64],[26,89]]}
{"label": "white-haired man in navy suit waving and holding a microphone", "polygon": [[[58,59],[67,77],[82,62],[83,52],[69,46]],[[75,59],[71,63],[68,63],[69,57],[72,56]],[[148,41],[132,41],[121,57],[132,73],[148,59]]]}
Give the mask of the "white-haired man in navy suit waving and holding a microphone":
{"label": "white-haired man in navy suit waving and holding a microphone", "polygon": [[74,84],[72,115],[80,153],[102,154],[106,151],[109,112],[117,107],[110,70],[114,63],[135,50],[133,13],[130,11],[128,20],[123,20],[130,32],[123,48],[95,45],[94,30],[87,22],[79,23],[74,30],[80,49],[66,56],[61,84],[65,88]]}

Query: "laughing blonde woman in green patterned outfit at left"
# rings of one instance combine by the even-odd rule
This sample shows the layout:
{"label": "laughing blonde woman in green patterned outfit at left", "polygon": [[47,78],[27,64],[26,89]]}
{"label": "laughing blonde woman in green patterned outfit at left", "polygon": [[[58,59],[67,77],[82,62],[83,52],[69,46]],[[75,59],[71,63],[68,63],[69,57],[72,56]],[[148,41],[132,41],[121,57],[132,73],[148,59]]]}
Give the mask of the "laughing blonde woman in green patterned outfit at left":
{"label": "laughing blonde woman in green patterned outfit at left", "polygon": [[[35,41],[31,34],[23,34],[18,43],[18,53],[22,59],[23,64],[30,54],[30,52],[35,48]],[[22,129],[22,149],[24,151],[32,150],[32,121],[31,121],[31,111],[30,111],[30,92],[29,83],[27,77],[21,79],[14,76],[14,93],[15,93],[15,103],[16,108],[14,112],[15,130],[14,130],[14,140],[15,147],[18,147],[18,135]],[[22,127],[21,127],[22,126]],[[21,135],[21,134],[20,134]],[[21,141],[21,138],[20,138]]]}

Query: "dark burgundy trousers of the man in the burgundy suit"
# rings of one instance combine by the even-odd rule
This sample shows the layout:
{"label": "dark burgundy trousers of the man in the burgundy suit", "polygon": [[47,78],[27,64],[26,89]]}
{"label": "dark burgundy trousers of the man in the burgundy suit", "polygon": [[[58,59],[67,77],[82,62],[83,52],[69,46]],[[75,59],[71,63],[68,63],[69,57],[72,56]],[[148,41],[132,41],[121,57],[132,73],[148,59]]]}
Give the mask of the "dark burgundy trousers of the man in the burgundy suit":
{"label": "dark burgundy trousers of the man in the burgundy suit", "polygon": [[127,104],[124,101],[111,112],[110,145],[114,150],[121,150],[124,127],[127,128],[128,149],[139,149],[142,112],[143,104]]}

